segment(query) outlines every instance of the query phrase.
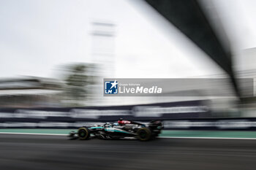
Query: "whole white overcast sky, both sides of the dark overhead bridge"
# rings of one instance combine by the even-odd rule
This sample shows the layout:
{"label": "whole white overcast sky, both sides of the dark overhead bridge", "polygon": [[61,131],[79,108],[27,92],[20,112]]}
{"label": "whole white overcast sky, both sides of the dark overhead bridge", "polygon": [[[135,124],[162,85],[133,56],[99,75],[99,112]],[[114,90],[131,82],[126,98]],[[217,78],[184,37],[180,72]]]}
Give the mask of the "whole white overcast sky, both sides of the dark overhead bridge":
{"label": "whole white overcast sky, both sides of the dark overhead bridge", "polygon": [[[229,35],[241,42],[234,45],[237,53],[256,46],[255,10],[250,4],[255,2],[225,1],[222,5],[214,1],[222,20],[229,20],[225,28],[234,27]],[[94,62],[97,41],[92,36],[93,22],[115,24],[111,42],[113,77],[223,74],[205,53],[144,1],[0,0],[0,79],[56,77],[60,66]]]}

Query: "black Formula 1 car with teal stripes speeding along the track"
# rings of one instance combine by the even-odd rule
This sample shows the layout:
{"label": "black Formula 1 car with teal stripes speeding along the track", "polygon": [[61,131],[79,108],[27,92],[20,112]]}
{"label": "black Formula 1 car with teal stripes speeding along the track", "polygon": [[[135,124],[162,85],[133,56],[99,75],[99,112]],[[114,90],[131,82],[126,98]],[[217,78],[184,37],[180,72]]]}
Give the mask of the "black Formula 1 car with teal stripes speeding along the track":
{"label": "black Formula 1 car with teal stripes speeding along the track", "polygon": [[89,139],[90,136],[99,139],[135,137],[135,139],[139,139],[140,141],[147,141],[158,136],[162,128],[162,123],[159,120],[152,120],[148,124],[143,124],[120,119],[118,123],[105,123],[104,125],[81,127],[77,132],[71,131],[69,138],[86,140]]}

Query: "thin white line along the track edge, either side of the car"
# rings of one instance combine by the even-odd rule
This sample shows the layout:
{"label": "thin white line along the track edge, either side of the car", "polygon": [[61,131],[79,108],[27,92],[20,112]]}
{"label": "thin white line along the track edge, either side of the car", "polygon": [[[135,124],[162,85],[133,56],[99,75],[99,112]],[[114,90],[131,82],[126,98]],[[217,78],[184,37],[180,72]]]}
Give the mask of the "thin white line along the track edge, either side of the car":
{"label": "thin white line along the track edge, either side of the car", "polygon": [[[29,135],[50,135],[50,136],[68,136],[68,134],[36,134],[36,133],[18,133],[18,132],[0,132],[0,134],[29,134]],[[256,138],[233,138],[233,137],[185,137],[185,136],[159,136],[164,139],[239,139],[256,140]]]}

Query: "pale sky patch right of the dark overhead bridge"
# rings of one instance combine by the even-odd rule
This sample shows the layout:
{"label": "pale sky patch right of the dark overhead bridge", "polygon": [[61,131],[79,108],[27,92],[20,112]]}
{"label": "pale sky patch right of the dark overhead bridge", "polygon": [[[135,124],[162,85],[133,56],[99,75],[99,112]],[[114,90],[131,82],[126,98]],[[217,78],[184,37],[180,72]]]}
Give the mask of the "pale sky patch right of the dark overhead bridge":
{"label": "pale sky patch right of the dark overhead bridge", "polygon": [[[214,5],[222,20],[233,50],[236,71],[250,71],[256,75],[256,1],[215,0]],[[252,55],[253,54],[253,55]],[[252,75],[251,75],[252,76]]]}

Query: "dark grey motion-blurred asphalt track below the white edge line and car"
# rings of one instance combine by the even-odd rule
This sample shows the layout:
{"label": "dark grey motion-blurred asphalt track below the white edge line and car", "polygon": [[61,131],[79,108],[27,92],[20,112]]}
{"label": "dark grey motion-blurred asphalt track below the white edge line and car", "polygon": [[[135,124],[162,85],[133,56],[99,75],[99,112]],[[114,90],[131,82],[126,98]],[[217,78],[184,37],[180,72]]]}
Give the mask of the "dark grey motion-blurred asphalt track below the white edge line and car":
{"label": "dark grey motion-blurred asphalt track below the white edge line and car", "polygon": [[0,134],[0,169],[256,169],[256,141]]}

